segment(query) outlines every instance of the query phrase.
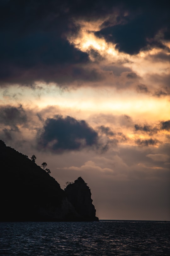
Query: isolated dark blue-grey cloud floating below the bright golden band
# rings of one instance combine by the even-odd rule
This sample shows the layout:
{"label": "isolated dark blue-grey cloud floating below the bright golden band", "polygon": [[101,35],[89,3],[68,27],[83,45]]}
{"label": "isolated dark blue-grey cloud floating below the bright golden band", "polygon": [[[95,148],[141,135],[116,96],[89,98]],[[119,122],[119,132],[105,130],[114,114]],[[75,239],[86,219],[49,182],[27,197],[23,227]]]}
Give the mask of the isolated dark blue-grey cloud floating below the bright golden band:
{"label": "isolated dark blue-grey cloud floating below the bright golden band", "polygon": [[97,145],[98,134],[84,120],[56,115],[45,121],[37,141],[40,150],[63,153]]}

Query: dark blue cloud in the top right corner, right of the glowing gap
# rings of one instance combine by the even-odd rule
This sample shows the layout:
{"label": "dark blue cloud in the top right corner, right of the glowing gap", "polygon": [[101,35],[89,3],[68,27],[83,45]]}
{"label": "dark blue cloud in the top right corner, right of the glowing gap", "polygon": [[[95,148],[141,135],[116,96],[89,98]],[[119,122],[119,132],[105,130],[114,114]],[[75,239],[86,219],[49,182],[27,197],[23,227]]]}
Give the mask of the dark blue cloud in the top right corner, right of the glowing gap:
{"label": "dark blue cloud in the top right corner, right of the glowing gap", "polygon": [[[119,12],[117,24],[112,25],[109,20],[103,24],[97,36],[104,37],[109,42],[116,43],[120,52],[137,54],[141,49],[148,47],[166,48],[160,38],[155,39],[156,34],[162,29],[168,29],[169,5],[165,3],[146,3],[132,1],[121,1],[122,10],[127,11],[124,16]],[[165,37],[169,34],[166,32]],[[169,38],[168,38],[169,39]]]}

